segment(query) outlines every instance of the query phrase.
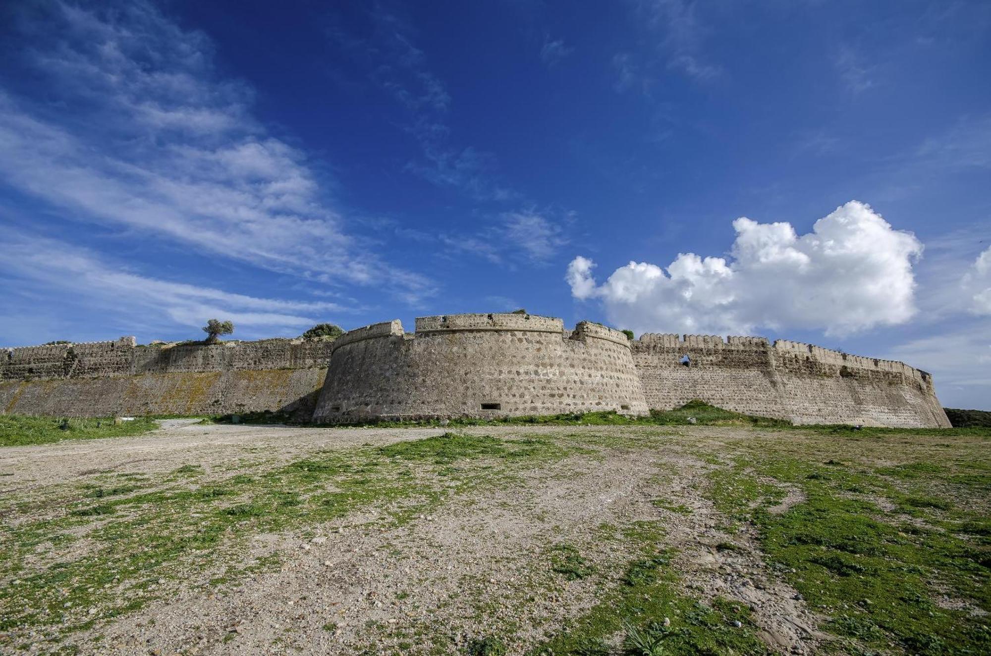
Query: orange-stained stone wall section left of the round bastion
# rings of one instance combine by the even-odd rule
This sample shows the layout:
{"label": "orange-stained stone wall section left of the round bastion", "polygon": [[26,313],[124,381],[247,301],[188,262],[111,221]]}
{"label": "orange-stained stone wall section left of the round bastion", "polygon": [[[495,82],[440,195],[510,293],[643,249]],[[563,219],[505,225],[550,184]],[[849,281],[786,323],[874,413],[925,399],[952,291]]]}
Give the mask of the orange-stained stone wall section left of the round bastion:
{"label": "orange-stained stone wall section left of the round bastion", "polygon": [[271,339],[0,349],[0,411],[53,416],[219,414],[309,417],[331,343]]}

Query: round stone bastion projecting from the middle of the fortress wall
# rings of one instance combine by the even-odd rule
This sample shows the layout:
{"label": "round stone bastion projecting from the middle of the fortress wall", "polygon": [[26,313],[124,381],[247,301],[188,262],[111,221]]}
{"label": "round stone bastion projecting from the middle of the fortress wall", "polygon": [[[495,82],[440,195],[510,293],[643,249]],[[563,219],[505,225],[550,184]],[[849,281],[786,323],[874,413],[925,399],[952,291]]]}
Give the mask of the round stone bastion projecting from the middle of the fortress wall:
{"label": "round stone bastion projecting from the middle of the fortress wall", "polygon": [[528,314],[419,317],[349,331],[333,344],[313,420],[647,413],[618,330]]}

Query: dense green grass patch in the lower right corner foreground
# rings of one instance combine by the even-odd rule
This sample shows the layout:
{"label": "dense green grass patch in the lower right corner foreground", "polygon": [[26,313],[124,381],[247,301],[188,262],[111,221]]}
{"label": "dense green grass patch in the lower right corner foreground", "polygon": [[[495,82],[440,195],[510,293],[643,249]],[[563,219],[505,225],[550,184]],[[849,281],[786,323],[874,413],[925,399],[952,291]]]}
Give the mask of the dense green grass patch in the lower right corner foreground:
{"label": "dense green grass patch in the lower right corner foreground", "polygon": [[[991,653],[986,622],[936,604],[948,594],[991,610],[991,540],[979,536],[986,517],[945,500],[954,491],[944,466],[872,471],[748,454],[731,470],[712,473],[708,493],[716,507],[758,525],[766,557],[829,616],[823,628],[849,641],[850,651],[891,651],[893,644],[896,653],[920,656]],[[781,515],[768,513],[774,495],[758,475],[800,488],[806,500]],[[885,513],[876,497],[895,510]],[[925,522],[903,523],[905,512]]]}

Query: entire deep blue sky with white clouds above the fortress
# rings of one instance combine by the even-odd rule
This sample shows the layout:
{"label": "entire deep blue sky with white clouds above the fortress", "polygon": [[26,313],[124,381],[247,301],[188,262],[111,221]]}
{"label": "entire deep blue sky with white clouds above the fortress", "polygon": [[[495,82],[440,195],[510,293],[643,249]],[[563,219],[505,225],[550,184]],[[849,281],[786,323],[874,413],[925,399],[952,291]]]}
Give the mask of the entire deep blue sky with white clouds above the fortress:
{"label": "entire deep blue sky with white clouds above the fortress", "polygon": [[525,307],[991,409],[989,69],[986,2],[7,2],[0,344]]}

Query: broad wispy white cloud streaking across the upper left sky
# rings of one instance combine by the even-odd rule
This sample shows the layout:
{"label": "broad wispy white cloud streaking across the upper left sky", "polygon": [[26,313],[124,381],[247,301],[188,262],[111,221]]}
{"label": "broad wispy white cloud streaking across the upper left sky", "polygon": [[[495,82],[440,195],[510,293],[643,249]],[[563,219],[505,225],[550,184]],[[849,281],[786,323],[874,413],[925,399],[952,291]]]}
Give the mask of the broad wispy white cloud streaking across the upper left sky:
{"label": "broad wispy white cloud streaking across the upper left sky", "polygon": [[39,5],[19,29],[19,65],[46,91],[0,89],[6,185],[66,218],[279,273],[432,291],[346,229],[319,166],[253,117],[252,90],[217,75],[204,35],[144,2]]}

